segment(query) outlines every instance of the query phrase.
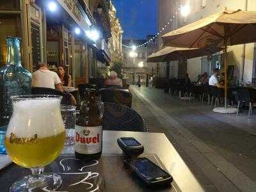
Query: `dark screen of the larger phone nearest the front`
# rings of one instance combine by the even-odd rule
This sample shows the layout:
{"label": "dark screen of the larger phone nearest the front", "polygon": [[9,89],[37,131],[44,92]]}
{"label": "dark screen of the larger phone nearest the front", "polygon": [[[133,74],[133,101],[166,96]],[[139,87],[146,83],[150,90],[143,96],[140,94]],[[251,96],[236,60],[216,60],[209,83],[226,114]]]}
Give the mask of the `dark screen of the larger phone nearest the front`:
{"label": "dark screen of the larger phone nearest the front", "polygon": [[145,179],[153,180],[157,178],[165,179],[169,175],[159,168],[156,164],[151,163],[148,159],[140,159],[137,161],[131,161],[131,166],[139,172]]}

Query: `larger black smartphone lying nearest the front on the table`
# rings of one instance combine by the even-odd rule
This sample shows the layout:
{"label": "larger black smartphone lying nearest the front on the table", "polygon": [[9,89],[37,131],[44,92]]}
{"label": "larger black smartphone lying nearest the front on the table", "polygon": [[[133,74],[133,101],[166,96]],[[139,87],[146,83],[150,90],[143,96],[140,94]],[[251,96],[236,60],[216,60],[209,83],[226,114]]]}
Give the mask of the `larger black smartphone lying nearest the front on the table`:
{"label": "larger black smartphone lying nearest the front on the table", "polygon": [[147,186],[170,185],[173,180],[172,175],[145,157],[132,160],[125,159],[124,163],[129,166]]}

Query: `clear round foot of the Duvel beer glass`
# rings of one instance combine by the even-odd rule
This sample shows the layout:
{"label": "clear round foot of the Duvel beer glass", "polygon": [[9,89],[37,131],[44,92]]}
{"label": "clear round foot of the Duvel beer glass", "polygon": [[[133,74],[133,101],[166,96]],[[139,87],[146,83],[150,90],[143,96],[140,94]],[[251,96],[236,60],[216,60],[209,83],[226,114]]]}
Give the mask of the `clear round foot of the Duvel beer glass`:
{"label": "clear round foot of the Duvel beer glass", "polygon": [[[43,173],[41,175],[29,175],[13,183],[10,192],[17,191],[55,191],[62,183],[60,175],[56,173]],[[37,189],[37,190],[36,190]],[[33,191],[34,191],[33,190]]]}

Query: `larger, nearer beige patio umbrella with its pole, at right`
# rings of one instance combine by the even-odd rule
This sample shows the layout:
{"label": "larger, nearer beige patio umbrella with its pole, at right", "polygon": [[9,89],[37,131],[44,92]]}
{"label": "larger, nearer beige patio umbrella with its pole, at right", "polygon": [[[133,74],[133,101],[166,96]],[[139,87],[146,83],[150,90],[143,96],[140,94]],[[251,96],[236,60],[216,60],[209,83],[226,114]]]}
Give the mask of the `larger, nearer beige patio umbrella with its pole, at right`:
{"label": "larger, nearer beige patio umbrella with its pole, at right", "polygon": [[256,42],[256,12],[216,13],[162,36],[164,46],[224,47],[225,108],[227,108],[227,46]]}

